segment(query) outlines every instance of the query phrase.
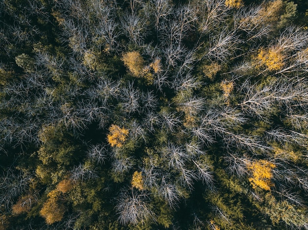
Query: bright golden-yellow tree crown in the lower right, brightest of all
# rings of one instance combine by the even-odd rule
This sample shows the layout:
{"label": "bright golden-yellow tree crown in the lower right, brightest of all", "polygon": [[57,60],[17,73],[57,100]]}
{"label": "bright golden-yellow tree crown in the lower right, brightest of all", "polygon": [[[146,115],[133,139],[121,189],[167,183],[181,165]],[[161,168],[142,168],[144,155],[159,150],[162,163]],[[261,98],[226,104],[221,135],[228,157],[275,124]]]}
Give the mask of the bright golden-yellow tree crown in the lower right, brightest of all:
{"label": "bright golden-yellow tree crown in the lower right, brightest of all", "polygon": [[252,177],[249,181],[254,189],[260,187],[264,190],[270,191],[274,183],[271,181],[273,178],[272,169],[276,165],[267,160],[257,160],[247,164],[248,170],[251,172]]}

